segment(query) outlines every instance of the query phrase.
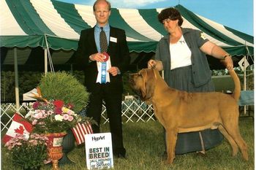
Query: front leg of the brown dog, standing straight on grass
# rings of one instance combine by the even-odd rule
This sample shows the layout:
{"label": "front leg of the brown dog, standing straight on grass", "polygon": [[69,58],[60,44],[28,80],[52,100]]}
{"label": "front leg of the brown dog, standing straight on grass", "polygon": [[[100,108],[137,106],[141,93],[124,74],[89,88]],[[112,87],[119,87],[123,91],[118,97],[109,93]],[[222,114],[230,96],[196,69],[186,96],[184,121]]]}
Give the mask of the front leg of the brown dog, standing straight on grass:
{"label": "front leg of the brown dog, standing straight on grass", "polygon": [[177,140],[177,131],[166,129],[167,163],[173,163],[175,158],[175,146]]}

